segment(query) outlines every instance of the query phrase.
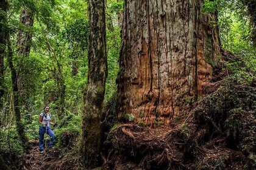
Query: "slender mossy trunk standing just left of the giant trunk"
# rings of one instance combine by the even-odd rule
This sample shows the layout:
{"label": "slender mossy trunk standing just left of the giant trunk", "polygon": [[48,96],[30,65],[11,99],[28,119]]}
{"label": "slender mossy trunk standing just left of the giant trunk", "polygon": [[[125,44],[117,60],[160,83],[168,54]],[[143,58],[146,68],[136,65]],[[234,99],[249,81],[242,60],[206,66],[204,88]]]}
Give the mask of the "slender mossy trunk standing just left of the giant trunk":
{"label": "slender mossy trunk standing just left of the giant trunk", "polygon": [[107,78],[105,42],[105,1],[88,1],[90,34],[88,48],[88,82],[82,117],[82,157],[85,168],[99,164],[101,146],[101,112]]}

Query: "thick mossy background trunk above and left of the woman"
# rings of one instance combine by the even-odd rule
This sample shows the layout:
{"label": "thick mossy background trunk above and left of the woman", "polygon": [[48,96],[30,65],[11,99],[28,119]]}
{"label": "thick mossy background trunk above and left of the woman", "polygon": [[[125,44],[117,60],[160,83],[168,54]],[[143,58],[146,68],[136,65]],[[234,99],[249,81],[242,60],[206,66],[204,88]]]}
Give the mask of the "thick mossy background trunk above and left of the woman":
{"label": "thick mossy background trunk above and left of the woman", "polygon": [[23,75],[26,75],[26,69],[22,66],[24,57],[28,57],[30,53],[30,47],[32,43],[32,33],[30,27],[34,25],[34,15],[30,9],[24,7],[20,15],[21,29],[18,32],[17,43],[16,43],[16,53],[21,57],[20,66],[17,70],[18,73],[18,90],[20,96],[24,99],[29,98],[29,92],[26,88],[26,80],[24,80]]}

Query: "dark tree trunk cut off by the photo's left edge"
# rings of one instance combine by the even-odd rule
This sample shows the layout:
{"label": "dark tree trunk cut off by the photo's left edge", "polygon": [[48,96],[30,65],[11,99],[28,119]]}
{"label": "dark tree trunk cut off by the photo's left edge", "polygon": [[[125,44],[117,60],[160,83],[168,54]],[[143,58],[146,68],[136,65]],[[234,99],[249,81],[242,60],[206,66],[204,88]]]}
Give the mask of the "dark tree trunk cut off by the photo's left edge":
{"label": "dark tree trunk cut off by the photo's left edge", "polygon": [[4,95],[4,53],[7,38],[7,0],[0,0],[0,106]]}

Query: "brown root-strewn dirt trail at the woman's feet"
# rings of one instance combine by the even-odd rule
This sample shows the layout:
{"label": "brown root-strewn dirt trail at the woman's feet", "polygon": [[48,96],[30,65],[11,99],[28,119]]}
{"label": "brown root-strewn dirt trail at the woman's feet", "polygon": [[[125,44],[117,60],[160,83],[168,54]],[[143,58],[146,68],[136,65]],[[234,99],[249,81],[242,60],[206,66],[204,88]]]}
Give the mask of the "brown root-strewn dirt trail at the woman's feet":
{"label": "brown root-strewn dirt trail at the woman's feet", "polygon": [[63,169],[63,158],[59,158],[60,151],[55,148],[47,149],[43,153],[38,151],[38,141],[29,141],[29,154],[25,156],[24,169]]}

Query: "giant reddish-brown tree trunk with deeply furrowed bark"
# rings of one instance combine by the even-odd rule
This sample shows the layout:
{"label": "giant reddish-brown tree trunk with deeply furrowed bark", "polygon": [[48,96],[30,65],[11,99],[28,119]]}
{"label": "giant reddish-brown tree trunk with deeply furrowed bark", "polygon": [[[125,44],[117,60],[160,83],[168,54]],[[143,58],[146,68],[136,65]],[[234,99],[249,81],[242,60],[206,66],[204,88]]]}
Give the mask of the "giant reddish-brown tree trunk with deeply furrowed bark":
{"label": "giant reddish-brown tree trunk with deeply furrowed bark", "polygon": [[126,0],[117,79],[119,117],[165,123],[187,113],[219,56],[216,15],[202,0]]}

